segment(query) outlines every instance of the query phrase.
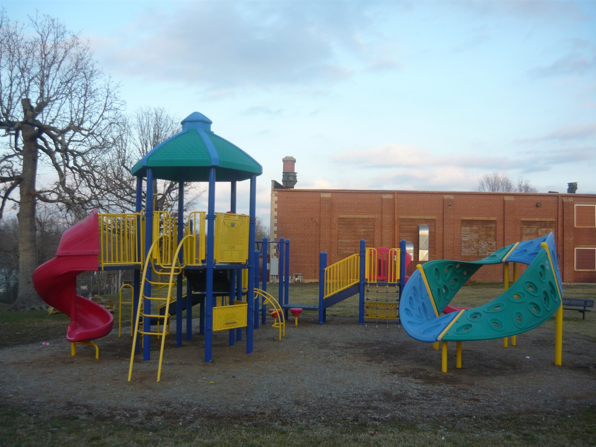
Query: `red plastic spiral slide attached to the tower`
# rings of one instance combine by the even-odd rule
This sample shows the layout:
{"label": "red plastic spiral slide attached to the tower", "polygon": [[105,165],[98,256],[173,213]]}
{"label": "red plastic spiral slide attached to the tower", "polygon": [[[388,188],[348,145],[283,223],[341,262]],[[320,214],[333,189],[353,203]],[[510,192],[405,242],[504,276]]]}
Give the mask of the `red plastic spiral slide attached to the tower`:
{"label": "red plastic spiral slide attached to the tower", "polygon": [[100,234],[97,210],[64,231],[54,259],[33,272],[33,285],[41,298],[70,316],[69,342],[85,342],[107,336],[114,317],[107,309],[76,294],[76,277],[98,269]]}

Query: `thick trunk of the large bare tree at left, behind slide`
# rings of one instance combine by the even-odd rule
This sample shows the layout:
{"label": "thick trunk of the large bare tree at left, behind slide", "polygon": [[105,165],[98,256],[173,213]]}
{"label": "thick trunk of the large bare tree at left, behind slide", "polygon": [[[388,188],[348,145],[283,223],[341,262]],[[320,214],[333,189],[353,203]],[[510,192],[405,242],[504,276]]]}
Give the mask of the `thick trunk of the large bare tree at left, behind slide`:
{"label": "thick trunk of the large bare tree at left, behind slide", "polygon": [[[28,99],[22,100],[25,120],[32,120],[33,108]],[[46,306],[33,287],[33,271],[38,266],[35,229],[37,166],[39,151],[38,134],[34,126],[21,127],[23,138],[23,173],[20,183],[18,207],[18,295],[13,308],[18,310],[45,309]]]}

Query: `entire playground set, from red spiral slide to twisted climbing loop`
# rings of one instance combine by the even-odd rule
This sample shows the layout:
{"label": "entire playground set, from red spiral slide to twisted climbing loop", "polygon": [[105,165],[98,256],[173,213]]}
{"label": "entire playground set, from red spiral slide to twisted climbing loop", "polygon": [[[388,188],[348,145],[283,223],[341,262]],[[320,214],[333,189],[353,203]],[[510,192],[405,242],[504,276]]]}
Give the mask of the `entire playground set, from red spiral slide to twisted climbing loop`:
{"label": "entire playground set, from red spiral slide to twisted climbing loop", "polygon": [[[417,266],[409,281],[405,271],[411,257],[406,253],[405,240],[399,248],[375,249],[366,247],[363,239],[358,253],[329,266],[327,253],[320,253],[318,305],[290,303],[290,241],[254,240],[256,176],[262,173],[262,167],[240,148],[214,134],[211,124],[197,112],[184,119],[182,132],[157,145],[132,168],[131,173],[136,176],[135,213],[98,214],[93,210],[64,232],[57,256],[36,269],[33,283],[39,295],[71,318],[67,340],[72,343],[72,355],[76,353],[76,344],[85,344],[94,346],[97,356],[98,347],[92,340],[109,334],[114,324],[110,312],[76,294],[76,276],[82,271],[130,269],[134,271],[133,342],[128,380],[132,379],[140,346],[143,359],[150,360],[151,336],[160,342],[157,381],[160,380],[171,318],[176,318],[176,345],[181,346],[184,327],[186,339],[193,336],[194,305],[200,306],[199,334],[204,334],[204,361],[210,362],[215,331],[227,330],[228,344],[234,346],[242,340],[246,328],[246,352],[252,353],[253,330],[259,327],[259,314],[260,323],[266,324],[267,306],[281,340],[288,311],[294,316],[302,311],[316,311],[319,324],[324,324],[328,308],[356,294],[359,324],[371,319],[377,324],[382,319],[387,324],[391,320],[401,321],[415,339],[442,343],[443,371],[448,341],[457,342],[460,368],[462,341],[503,338],[507,346],[509,336],[531,330],[557,312],[555,364],[561,364],[562,291],[552,234],[511,244],[474,262],[426,262]],[[176,220],[169,210],[154,209],[154,179],[178,182]],[[236,213],[237,182],[245,180],[250,181],[249,215],[240,215]],[[190,212],[185,220],[184,184],[197,181],[209,184],[207,211]],[[216,182],[231,185],[228,212],[215,212]],[[265,263],[271,244],[275,244],[279,255],[278,300],[266,291]],[[261,254],[263,285],[259,289]],[[514,283],[510,288],[509,262],[514,262]],[[450,305],[455,293],[477,269],[498,263],[505,263],[507,272],[504,294],[475,309]],[[519,280],[517,263],[528,265]],[[367,294],[371,291],[374,299]],[[184,311],[186,325],[182,319]],[[440,316],[441,312],[445,315]]]}

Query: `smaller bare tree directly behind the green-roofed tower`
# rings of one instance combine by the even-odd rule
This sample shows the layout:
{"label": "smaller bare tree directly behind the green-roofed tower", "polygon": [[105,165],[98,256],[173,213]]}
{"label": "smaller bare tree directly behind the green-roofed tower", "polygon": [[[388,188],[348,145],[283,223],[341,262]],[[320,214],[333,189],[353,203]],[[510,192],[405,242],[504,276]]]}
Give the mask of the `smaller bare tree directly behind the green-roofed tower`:
{"label": "smaller bare tree directly behind the green-roofed tower", "polygon": [[[179,120],[162,107],[141,107],[131,117],[123,118],[114,132],[113,150],[105,158],[103,172],[104,209],[135,210],[135,178],[131,168],[151,149],[181,131]],[[156,209],[166,209],[173,214],[178,207],[178,182],[155,180]],[[190,209],[203,191],[185,185],[185,209]]]}

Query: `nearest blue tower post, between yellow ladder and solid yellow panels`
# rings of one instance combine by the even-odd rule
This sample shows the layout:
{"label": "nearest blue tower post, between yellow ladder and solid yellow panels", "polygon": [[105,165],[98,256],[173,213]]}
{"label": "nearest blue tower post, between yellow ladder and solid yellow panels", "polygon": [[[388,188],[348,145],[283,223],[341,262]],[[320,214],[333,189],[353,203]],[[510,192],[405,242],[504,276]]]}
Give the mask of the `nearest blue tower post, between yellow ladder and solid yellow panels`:
{"label": "nearest blue tower post, between yellow ladder and solid yellow panels", "polygon": [[205,284],[205,361],[212,358],[213,344],[213,257],[215,249],[215,167],[209,168],[209,204],[207,206],[207,266]]}

